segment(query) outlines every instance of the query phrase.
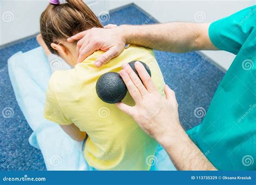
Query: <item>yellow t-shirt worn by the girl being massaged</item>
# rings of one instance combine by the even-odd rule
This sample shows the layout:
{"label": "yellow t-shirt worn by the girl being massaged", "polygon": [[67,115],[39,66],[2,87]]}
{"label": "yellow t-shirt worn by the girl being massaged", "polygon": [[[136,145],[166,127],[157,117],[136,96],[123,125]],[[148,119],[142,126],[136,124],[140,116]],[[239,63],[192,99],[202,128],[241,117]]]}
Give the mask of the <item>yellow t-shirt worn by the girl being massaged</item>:
{"label": "yellow t-shirt worn by the girl being massaged", "polygon": [[[84,156],[90,166],[99,170],[149,170],[157,142],[116,105],[100,100],[96,83],[106,72],[120,72],[122,63],[140,60],[150,67],[154,85],[164,95],[165,83],[154,53],[131,45],[118,57],[97,68],[94,63],[102,53],[93,53],[72,70],[52,74],[44,117],[59,125],[73,123],[88,134]],[[134,105],[129,93],[123,102]]]}

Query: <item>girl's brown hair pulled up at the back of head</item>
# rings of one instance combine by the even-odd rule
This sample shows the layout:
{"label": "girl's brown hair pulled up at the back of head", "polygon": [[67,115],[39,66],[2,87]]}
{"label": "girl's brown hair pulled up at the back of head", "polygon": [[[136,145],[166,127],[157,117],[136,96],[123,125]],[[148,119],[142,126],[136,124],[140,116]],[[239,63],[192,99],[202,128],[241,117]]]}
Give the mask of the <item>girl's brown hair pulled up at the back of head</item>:
{"label": "girl's brown hair pulled up at the back of head", "polygon": [[82,0],[66,0],[66,3],[49,4],[40,17],[40,31],[48,49],[56,39],[67,39],[78,32],[102,28],[99,19]]}

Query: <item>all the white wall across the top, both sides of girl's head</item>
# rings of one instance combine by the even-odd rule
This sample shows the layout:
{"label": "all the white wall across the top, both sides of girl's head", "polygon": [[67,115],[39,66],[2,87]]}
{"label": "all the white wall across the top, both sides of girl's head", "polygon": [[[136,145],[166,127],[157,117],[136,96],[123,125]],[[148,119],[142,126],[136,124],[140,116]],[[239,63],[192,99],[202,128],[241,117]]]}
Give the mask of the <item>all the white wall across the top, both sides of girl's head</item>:
{"label": "all the white wall across the top, both sides of girl's head", "polygon": [[[212,22],[255,4],[255,0],[84,0],[99,15],[135,3],[160,23],[171,21]],[[39,17],[48,0],[0,0],[0,46],[39,32]],[[224,51],[200,51],[225,71],[235,57]]]}

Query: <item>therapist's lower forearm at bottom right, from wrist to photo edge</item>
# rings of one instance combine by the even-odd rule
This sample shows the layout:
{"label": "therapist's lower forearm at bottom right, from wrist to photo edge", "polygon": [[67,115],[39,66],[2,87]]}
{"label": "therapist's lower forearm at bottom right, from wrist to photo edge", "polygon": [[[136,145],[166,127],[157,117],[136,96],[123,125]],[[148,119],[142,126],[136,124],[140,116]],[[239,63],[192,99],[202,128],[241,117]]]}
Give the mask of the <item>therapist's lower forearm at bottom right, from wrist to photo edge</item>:
{"label": "therapist's lower forearm at bottom right, from wrist to photo edge", "polygon": [[[217,170],[180,126],[157,138],[178,170]],[[173,134],[169,134],[173,133]]]}

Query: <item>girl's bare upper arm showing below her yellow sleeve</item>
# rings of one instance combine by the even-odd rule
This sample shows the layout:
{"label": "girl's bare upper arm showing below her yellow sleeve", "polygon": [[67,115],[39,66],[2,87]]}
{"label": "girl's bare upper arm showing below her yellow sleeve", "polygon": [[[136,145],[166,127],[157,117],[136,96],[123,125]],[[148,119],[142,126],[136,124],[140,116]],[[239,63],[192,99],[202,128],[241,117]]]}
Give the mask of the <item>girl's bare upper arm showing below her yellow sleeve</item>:
{"label": "girl's bare upper arm showing below her yellow sleeve", "polygon": [[80,129],[75,125],[59,125],[66,134],[70,136],[75,141],[83,141],[86,136],[86,132],[80,131]]}

